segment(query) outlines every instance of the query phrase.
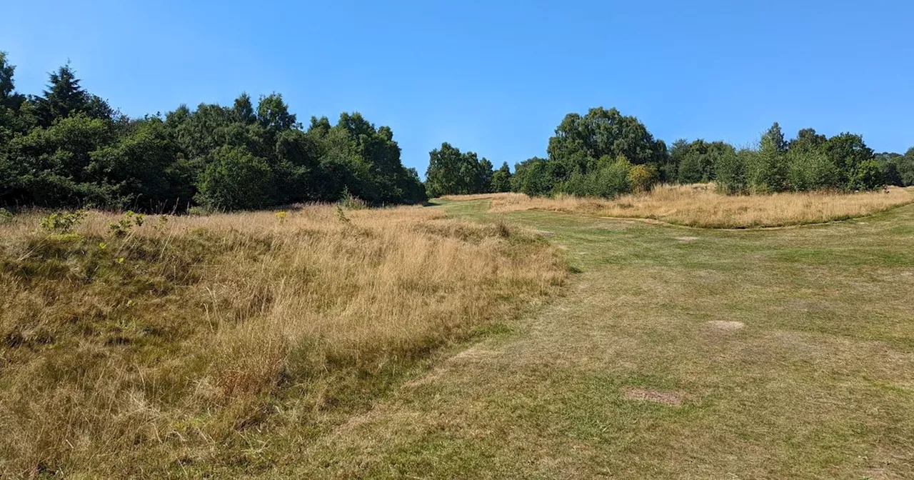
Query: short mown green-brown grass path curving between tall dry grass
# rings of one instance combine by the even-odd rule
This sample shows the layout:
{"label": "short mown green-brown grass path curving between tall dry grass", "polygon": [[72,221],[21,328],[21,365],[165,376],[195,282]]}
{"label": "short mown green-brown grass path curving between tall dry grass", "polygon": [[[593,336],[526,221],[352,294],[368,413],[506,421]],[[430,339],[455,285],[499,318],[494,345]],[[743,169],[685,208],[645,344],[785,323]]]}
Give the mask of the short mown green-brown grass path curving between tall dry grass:
{"label": "short mown green-brown grass path curving between tall dry grass", "polygon": [[436,208],[579,273],[271,476],[914,478],[914,206],[761,231]]}

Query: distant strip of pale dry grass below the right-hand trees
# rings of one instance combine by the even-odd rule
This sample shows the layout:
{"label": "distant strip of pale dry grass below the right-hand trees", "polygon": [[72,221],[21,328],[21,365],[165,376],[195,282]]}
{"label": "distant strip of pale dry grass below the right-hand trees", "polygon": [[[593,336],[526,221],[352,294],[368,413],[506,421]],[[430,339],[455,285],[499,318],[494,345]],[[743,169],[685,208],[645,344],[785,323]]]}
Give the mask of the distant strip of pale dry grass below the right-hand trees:
{"label": "distant strip of pale dry grass below the right-hand trees", "polygon": [[552,210],[624,219],[655,219],[703,228],[748,229],[822,223],[863,217],[914,202],[914,189],[842,194],[780,193],[767,196],[725,196],[714,184],[660,186],[642,195],[612,200],[571,196],[527,197],[504,193],[445,197],[451,200],[491,199],[493,212]]}

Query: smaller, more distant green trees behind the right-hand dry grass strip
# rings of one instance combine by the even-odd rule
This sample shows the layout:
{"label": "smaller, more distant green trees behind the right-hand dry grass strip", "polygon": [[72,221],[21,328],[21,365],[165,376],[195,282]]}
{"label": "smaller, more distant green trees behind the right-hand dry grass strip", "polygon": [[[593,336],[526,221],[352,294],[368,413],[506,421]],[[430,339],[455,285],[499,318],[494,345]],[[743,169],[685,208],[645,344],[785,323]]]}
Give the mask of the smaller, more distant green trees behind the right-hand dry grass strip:
{"label": "smaller, more distant green trees behind the right-hand dry grass strip", "polygon": [[826,137],[813,129],[788,141],[778,123],[749,148],[701,139],[667,147],[637,118],[601,107],[566,115],[549,138],[547,157],[520,162],[513,174],[503,165],[497,185],[491,165],[443,144],[431,152],[426,187],[432,196],[506,186],[533,196],[615,197],[657,182],[716,182],[730,195],[914,185],[914,147],[904,155],[876,154],[856,133]]}

